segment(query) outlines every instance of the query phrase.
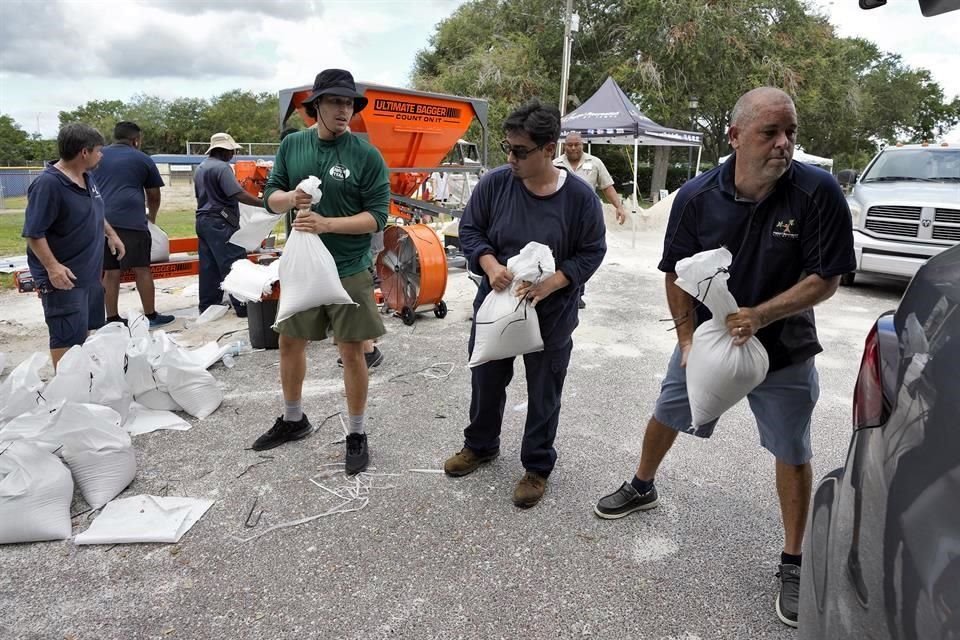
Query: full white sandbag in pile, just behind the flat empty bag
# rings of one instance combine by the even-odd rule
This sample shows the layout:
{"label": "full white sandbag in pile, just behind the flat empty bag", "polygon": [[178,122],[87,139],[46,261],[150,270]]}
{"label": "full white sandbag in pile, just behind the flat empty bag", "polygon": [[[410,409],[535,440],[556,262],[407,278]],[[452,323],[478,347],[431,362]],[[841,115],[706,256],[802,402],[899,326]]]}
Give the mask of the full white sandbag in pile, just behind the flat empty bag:
{"label": "full white sandbag in pile, just behind the flat empty bag", "polygon": [[58,453],[94,509],[113,500],[137,475],[133,444],[120,424],[120,414],[109,407],[68,402],[39,436],[62,445]]}

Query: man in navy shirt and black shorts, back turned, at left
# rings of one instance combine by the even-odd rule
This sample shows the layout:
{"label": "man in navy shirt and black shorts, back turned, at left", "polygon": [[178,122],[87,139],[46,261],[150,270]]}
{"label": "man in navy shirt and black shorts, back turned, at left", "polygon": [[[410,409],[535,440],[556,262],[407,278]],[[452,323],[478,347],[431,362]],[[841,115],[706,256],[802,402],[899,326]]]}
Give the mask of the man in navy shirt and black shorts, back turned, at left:
{"label": "man in navy shirt and black shorts, back turned, at left", "polygon": [[150,321],[150,328],[156,329],[174,320],[171,315],[157,313],[153,274],[150,272],[152,242],[147,220],[157,222],[163,179],[150,156],[140,151],[143,133],[136,123],[118,122],[113,128],[113,139],[114,144],[104,147],[103,160],[93,172],[106,206],[107,222],[116,229],[127,248],[122,261],[109,250],[104,250],[103,290],[107,322],[123,322],[117,308],[120,275],[126,269],[133,269],[143,315]]}

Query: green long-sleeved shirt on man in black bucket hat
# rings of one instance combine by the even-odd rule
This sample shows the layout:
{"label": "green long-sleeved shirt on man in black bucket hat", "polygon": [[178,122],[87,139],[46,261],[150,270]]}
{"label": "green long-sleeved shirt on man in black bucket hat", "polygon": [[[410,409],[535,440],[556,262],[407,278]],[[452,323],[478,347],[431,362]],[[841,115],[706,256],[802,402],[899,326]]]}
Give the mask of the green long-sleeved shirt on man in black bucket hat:
{"label": "green long-sleeved shirt on man in black bucket hat", "polygon": [[[351,133],[321,140],[316,129],[288,135],[277,150],[263,201],[266,203],[278,189],[296,189],[301,180],[310,176],[320,178],[323,192],[313,211],[328,218],[368,211],[377,220],[377,229],[383,230],[390,206],[390,176],[383,156],[369,142]],[[370,268],[371,235],[320,234],[337,262],[341,278]]]}

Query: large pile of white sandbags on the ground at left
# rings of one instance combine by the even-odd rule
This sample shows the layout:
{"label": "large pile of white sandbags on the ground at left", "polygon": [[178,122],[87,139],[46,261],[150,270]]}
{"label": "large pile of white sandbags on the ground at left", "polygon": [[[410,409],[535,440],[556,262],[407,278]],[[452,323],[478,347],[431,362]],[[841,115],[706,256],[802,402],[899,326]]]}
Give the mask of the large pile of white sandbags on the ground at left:
{"label": "large pile of white sandbags on the ground at left", "polygon": [[207,368],[231,348],[188,351],[138,315],[67,351],[48,383],[47,354],[21,362],[0,384],[0,544],[69,537],[74,484],[94,509],[119,495],[137,471],[130,433],[216,411]]}

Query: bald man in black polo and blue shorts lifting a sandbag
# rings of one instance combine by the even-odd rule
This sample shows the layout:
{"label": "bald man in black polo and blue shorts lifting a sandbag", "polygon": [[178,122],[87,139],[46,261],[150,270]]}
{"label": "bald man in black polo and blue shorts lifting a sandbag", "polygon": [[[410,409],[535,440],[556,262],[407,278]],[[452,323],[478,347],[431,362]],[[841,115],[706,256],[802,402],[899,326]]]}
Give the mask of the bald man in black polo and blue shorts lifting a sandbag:
{"label": "bald man in black polo and blue shorts lifting a sandbag", "polygon": [[836,292],[856,268],[850,211],[829,173],[792,162],[797,113],[790,96],[770,87],[744,94],[731,114],[734,154],[686,183],[670,212],[659,268],[676,318],[678,345],[647,423],[640,465],[630,482],[594,508],[614,519],[657,506],[654,474],[680,431],[709,437],[716,423],[691,429],[684,367],[704,306],[674,282],[679,260],[727,247],[730,292],[741,305],[726,318],[735,345],[756,335],[770,358],[766,379],[747,397],[761,445],[776,458],[784,527],[780,558],[781,621],[797,625],[800,551],[810,502],[810,423],[819,395],[813,306]]}

